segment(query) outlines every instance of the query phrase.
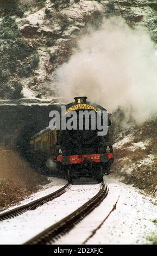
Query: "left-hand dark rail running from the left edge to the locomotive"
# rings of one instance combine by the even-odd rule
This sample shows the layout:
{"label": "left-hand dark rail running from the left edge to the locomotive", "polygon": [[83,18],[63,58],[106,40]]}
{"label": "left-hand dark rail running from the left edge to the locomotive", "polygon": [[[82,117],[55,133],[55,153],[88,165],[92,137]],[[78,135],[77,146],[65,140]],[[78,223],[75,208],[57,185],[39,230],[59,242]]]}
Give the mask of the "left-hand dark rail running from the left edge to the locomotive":
{"label": "left-hand dark rail running from the left edge to the locomotive", "polygon": [[61,194],[65,193],[68,188],[70,188],[71,183],[67,183],[64,187],[61,187],[59,190],[48,194],[45,197],[41,197],[39,199],[34,200],[33,202],[30,202],[28,204],[25,205],[21,205],[18,206],[17,208],[14,208],[12,210],[3,212],[2,214],[0,214],[0,221],[4,221],[4,220],[8,220],[10,218],[14,218],[16,216],[19,216],[21,214],[23,214],[26,211],[29,210],[35,210],[36,208],[38,208],[39,206],[46,204],[47,202],[55,199],[56,197],[60,197]]}

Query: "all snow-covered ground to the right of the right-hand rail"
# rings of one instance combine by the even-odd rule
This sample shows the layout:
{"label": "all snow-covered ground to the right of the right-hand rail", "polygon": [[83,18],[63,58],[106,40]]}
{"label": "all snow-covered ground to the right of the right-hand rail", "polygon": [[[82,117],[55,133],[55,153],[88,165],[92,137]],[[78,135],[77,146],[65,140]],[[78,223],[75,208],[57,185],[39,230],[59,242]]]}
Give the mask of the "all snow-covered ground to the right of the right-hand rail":
{"label": "all snow-covered ground to the right of the right-hand rail", "polygon": [[[152,204],[152,199],[121,182],[108,178],[108,183],[108,197],[70,233],[56,241],[56,245],[84,243],[105,218],[104,224],[87,244],[147,243],[147,235],[153,231],[157,233],[157,227],[152,222],[157,218],[157,207]],[[115,204],[116,210],[111,212]]]}

